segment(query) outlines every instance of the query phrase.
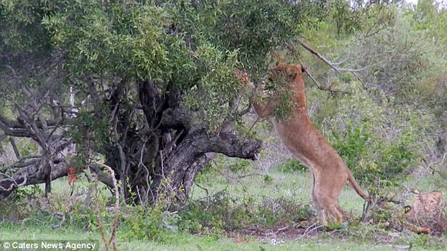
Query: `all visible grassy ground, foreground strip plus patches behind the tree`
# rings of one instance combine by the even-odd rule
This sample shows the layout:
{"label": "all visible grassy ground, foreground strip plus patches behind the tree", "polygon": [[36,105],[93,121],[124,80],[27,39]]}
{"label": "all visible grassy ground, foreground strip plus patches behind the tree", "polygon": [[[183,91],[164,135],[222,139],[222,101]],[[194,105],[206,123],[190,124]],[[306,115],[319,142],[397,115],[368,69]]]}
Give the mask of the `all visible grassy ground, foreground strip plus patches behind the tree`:
{"label": "all visible grassy ground, foreground strip plus patches behind the tree", "polygon": [[[193,199],[209,196],[217,191],[226,190],[233,196],[250,197],[253,200],[265,198],[287,198],[303,204],[310,204],[311,176],[305,172],[289,172],[271,169],[269,171],[242,172],[231,175],[221,170],[211,170],[198,177],[198,185],[192,190]],[[228,175],[227,175],[228,174]],[[266,176],[267,175],[267,176]],[[232,178],[230,178],[230,176]],[[82,180],[76,183],[75,193],[82,193],[87,188]],[[412,181],[406,181],[411,183]],[[430,191],[432,179],[424,179],[421,190]],[[53,182],[52,200],[58,207],[64,208],[67,201],[59,198],[70,198],[70,189],[66,179]],[[43,188],[43,187],[42,187]],[[342,208],[354,217],[360,217],[363,200],[355,191],[346,186],[340,196]],[[119,250],[447,250],[446,238],[436,238],[427,235],[417,235],[409,231],[390,232],[368,225],[355,226],[334,231],[315,230],[312,234],[304,233],[289,224],[286,230],[277,228],[265,230],[258,234],[246,234],[244,231],[221,234],[189,234],[173,232],[164,235],[160,241],[138,238],[123,238],[121,233],[126,229],[118,229]],[[107,227],[107,225],[106,225]],[[121,226],[120,226],[121,227]],[[100,235],[95,230],[83,230],[79,226],[64,224],[51,227],[47,222],[30,219],[20,223],[0,223],[0,240],[31,239],[31,240],[94,240],[100,241]],[[102,246],[100,246],[102,250]],[[1,247],[0,247],[1,250]]]}

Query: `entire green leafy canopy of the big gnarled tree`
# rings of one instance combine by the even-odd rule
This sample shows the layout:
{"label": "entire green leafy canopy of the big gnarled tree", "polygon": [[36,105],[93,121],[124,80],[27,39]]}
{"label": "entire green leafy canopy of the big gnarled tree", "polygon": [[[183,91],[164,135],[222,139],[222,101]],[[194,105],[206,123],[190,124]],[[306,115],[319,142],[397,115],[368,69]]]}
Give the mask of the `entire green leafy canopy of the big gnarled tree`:
{"label": "entire green leafy canopy of the big gnarled tree", "polygon": [[160,92],[173,85],[211,128],[244,88],[236,69],[263,75],[266,55],[323,15],[309,0],[206,0],[198,8],[191,1],[21,2],[1,4],[0,44],[8,50],[36,51],[41,41],[40,51],[62,51],[65,80],[81,89],[92,75],[151,79]]}

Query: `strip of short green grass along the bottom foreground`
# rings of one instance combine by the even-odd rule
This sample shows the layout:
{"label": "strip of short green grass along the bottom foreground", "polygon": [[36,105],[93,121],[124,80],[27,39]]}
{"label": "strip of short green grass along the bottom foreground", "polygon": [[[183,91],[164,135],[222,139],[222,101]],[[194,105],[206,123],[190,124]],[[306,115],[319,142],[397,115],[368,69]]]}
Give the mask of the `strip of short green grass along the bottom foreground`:
{"label": "strip of short green grass along the bottom foreground", "polygon": [[[99,240],[97,233],[85,232],[70,227],[63,227],[57,230],[51,230],[39,225],[0,225],[1,240]],[[189,250],[219,250],[219,251],[240,251],[240,250],[398,250],[399,247],[408,247],[407,244],[375,244],[342,241],[337,238],[313,237],[311,239],[295,239],[283,241],[278,244],[263,243],[254,238],[248,238],[248,242],[236,242],[234,238],[215,238],[210,236],[198,236],[186,233],[173,234],[169,243],[164,244],[155,241],[133,240],[123,241],[118,236],[119,250],[151,250],[151,251],[189,251]],[[266,240],[270,242],[270,240]],[[100,245],[102,243],[100,242]],[[103,247],[100,246],[103,250]],[[443,246],[445,248],[445,246]],[[418,247],[414,246],[412,250],[441,250],[443,247]],[[0,249],[1,250],[1,249]]]}

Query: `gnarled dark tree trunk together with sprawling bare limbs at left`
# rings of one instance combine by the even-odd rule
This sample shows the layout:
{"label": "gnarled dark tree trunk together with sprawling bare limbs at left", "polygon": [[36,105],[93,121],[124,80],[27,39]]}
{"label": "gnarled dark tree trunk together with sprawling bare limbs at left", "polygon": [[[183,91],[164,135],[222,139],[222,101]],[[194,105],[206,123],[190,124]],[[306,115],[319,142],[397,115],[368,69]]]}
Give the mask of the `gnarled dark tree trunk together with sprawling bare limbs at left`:
{"label": "gnarled dark tree trunk together with sprawling bare limbs at left", "polygon": [[[110,140],[95,141],[94,135],[89,136],[89,131],[94,132],[95,128],[88,128],[84,130],[87,133],[81,142],[76,142],[80,146],[77,150],[84,146],[84,152],[78,154],[87,161],[92,159],[88,156],[94,149],[105,155],[105,164],[114,169],[115,178],[122,182],[121,192],[127,202],[153,203],[161,194],[168,195],[170,202],[185,200],[195,175],[209,162],[205,153],[223,153],[229,157],[254,160],[261,151],[260,140],[244,138],[229,128],[209,133],[202,122],[193,123],[193,115],[181,106],[178,90],[168,87],[165,94],[160,95],[153,81],[137,81],[136,88],[141,107],[125,105],[132,101],[128,99],[126,90],[120,87],[104,100],[110,113],[104,106],[94,107],[93,113],[98,119],[111,121]],[[101,100],[97,99],[95,104],[97,102]],[[142,117],[141,111],[144,119],[135,119]],[[31,137],[46,150],[40,158],[23,166],[11,177],[0,179],[0,200],[17,187],[29,184],[46,183],[49,191],[51,180],[68,173],[70,163],[59,153],[75,142],[61,136],[57,140],[49,140],[51,134],[45,127],[49,123],[41,124],[40,120],[32,118],[28,118],[26,123],[33,128],[0,116],[0,129],[6,135]],[[57,126],[60,123],[51,124]],[[110,176],[98,165],[85,165],[89,165],[103,183],[112,187]]]}

